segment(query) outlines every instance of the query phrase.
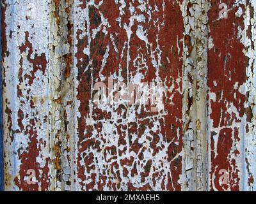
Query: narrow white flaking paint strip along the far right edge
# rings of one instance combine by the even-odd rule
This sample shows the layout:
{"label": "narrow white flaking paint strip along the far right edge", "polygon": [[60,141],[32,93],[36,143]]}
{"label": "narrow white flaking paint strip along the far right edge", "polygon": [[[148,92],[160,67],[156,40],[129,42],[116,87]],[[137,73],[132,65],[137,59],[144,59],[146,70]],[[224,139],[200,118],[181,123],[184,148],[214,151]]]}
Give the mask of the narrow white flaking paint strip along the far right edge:
{"label": "narrow white flaking paint strip along the far right edge", "polygon": [[244,137],[244,190],[255,191],[256,171],[253,166],[255,160],[255,1],[245,1],[244,8],[244,31],[241,35],[241,42],[244,45],[244,55],[248,57],[248,67],[246,68],[246,86],[248,92],[248,103],[246,108],[246,136]]}

